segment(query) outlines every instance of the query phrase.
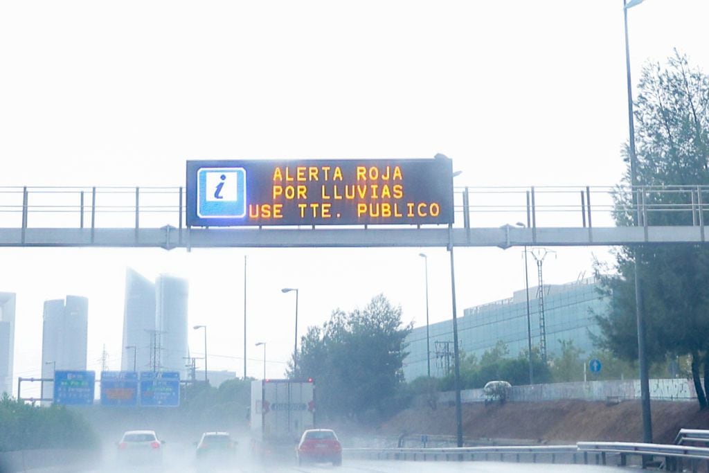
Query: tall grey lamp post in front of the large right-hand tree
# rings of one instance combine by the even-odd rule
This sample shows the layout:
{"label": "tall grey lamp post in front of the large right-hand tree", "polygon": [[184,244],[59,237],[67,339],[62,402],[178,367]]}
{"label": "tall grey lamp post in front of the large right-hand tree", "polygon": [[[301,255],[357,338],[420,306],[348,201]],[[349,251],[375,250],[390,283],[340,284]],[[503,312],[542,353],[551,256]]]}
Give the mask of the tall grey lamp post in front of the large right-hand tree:
{"label": "tall grey lamp post in front of the large right-hand tree", "polygon": [[[627,11],[633,6],[639,5],[643,0],[623,0],[623,26],[625,27],[625,71],[627,82],[627,121],[628,132],[630,134],[630,189],[632,192],[632,221],[635,226],[638,225],[637,216],[637,155],[635,154],[635,121],[632,111],[632,81],[630,79],[630,44],[627,34]],[[635,322],[637,325],[637,358],[640,367],[640,399],[642,404],[642,441],[644,443],[652,443],[652,418],[650,413],[650,382],[647,365],[647,352],[645,350],[645,321],[642,312],[642,291],[640,284],[640,270],[637,264],[639,252],[637,247],[634,251],[635,257]]]}

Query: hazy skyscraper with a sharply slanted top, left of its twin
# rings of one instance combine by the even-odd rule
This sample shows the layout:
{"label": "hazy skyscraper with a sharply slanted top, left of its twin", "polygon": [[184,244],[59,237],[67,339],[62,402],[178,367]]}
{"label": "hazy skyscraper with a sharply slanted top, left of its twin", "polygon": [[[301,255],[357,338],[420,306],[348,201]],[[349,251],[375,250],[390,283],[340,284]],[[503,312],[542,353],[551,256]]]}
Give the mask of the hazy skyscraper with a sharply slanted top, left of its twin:
{"label": "hazy skyscraper with a sharply slanted top, left of its twin", "polygon": [[152,346],[154,335],[155,284],[128,268],[125,271],[121,370],[133,371],[133,356],[137,371],[152,369],[152,357],[157,352],[157,347]]}

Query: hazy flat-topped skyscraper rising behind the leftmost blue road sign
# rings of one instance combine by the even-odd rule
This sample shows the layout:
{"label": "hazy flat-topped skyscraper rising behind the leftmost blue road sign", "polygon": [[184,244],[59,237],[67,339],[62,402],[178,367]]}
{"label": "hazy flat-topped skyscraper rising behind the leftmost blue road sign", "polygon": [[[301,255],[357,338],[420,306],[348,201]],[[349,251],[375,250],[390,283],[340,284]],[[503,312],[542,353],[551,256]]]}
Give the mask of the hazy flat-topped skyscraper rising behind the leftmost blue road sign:
{"label": "hazy flat-topped skyscraper rising behind the leftmost blue road sign", "polygon": [[[42,377],[55,370],[86,369],[89,299],[67,296],[66,301],[45,301],[42,327]],[[52,397],[52,382],[43,384],[42,397]]]}

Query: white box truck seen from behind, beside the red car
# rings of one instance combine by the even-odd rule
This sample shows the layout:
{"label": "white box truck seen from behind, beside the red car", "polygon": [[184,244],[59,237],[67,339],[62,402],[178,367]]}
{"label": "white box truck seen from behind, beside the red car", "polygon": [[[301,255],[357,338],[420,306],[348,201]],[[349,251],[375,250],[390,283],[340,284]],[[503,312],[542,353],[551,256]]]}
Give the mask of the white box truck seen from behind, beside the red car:
{"label": "white box truck seen from behind, beside the red car", "polygon": [[252,452],[262,458],[293,455],[303,431],[315,428],[315,413],[312,378],[252,381]]}

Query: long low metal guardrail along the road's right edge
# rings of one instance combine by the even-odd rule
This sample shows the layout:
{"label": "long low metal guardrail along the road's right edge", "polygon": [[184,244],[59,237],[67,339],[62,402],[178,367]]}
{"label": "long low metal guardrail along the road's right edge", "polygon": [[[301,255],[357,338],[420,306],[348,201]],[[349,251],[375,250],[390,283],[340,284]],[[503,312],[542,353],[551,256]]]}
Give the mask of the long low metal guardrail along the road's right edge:
{"label": "long low metal guardrail along the road's right edge", "polygon": [[576,445],[539,445],[510,447],[452,448],[350,448],[346,455],[370,460],[410,461],[513,461],[574,464],[610,464],[627,466],[629,459],[640,459],[641,465],[656,462],[668,471],[683,471],[685,463],[697,472],[700,462],[709,471],[709,448],[683,445],[623,442],[579,442]]}

